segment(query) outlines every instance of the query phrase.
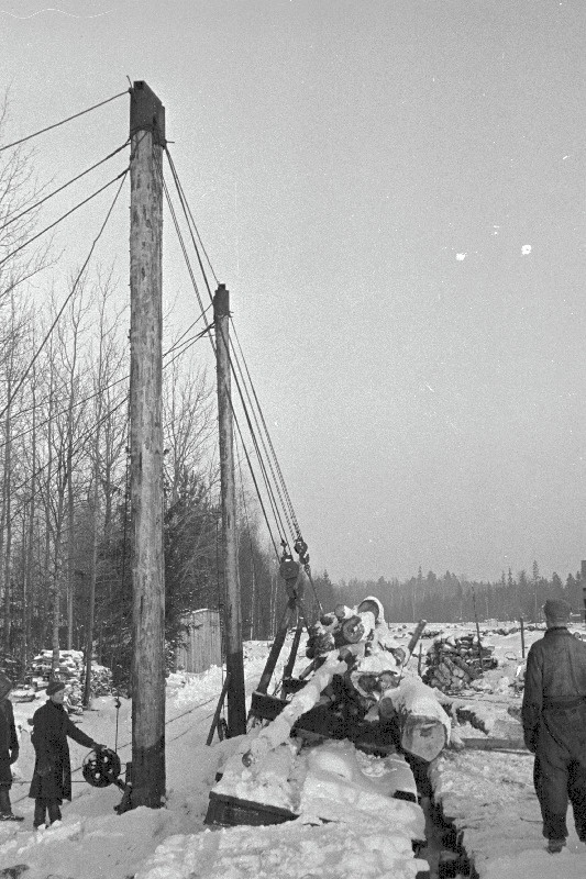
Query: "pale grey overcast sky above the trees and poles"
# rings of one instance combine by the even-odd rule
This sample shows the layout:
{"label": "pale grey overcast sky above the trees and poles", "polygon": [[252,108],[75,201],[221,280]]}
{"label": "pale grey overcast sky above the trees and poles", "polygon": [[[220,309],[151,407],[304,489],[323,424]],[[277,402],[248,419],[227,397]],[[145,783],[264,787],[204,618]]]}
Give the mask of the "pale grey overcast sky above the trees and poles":
{"label": "pale grey overcast sky above the trees and poles", "polygon": [[[314,570],[579,568],[584,0],[0,9],[11,135],[126,77],[165,104]],[[41,175],[121,145],[128,111],[122,98],[37,138]],[[121,277],[126,220],[128,198]],[[165,247],[180,326],[197,307]]]}

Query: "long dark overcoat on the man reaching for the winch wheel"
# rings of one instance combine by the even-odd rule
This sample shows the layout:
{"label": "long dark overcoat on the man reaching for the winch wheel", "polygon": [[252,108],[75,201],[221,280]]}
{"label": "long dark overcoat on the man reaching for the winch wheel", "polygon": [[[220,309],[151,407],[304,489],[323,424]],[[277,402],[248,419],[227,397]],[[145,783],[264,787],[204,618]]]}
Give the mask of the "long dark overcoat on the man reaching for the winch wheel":
{"label": "long dark overcoat on the man reaching for the winch wheel", "polygon": [[92,738],[69,720],[64,706],[49,699],[33,714],[31,742],[36,759],[29,797],[59,803],[71,799],[71,765],[67,736],[87,748],[96,745]]}

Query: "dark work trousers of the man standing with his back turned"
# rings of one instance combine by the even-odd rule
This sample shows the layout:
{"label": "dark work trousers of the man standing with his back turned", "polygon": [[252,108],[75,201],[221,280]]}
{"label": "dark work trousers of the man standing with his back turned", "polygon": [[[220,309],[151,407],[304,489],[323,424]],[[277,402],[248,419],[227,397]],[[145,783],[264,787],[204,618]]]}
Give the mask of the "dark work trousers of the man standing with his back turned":
{"label": "dark work trousers of the man standing with his back turned", "polygon": [[586,703],[543,711],[533,768],[543,835],[565,839],[572,803],[578,837],[586,842]]}

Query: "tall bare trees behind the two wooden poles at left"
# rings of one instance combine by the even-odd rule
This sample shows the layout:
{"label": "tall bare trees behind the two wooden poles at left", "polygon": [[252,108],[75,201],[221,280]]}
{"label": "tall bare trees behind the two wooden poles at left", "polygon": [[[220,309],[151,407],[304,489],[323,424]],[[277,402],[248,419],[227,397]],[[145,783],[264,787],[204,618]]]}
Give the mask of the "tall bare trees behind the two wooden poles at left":
{"label": "tall bare trees behind the two wooden poles at left", "polygon": [[[0,108],[0,132],[4,113]],[[86,649],[128,681],[132,652],[128,283],[60,270],[30,248],[31,156],[0,157],[0,661]],[[184,613],[221,605],[215,386],[201,348],[165,342],[164,541],[168,661]],[[196,354],[195,354],[196,352]],[[213,374],[212,374],[213,376]],[[269,637],[283,599],[257,510],[241,496],[246,636]]]}

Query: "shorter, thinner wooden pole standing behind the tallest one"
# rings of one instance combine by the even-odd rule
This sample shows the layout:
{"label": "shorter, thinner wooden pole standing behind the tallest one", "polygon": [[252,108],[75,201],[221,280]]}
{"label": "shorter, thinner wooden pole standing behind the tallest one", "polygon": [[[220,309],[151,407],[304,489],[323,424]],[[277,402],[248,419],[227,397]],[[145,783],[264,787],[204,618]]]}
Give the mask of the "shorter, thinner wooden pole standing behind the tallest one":
{"label": "shorter, thinner wooden pole standing behind the tallest one", "polygon": [[213,297],[218,422],[220,429],[220,478],[222,489],[222,561],[224,582],[224,641],[228,697],[228,735],[246,732],[242,610],[237,577],[236,490],[234,480],[234,432],[230,394],[230,293],[221,283]]}

